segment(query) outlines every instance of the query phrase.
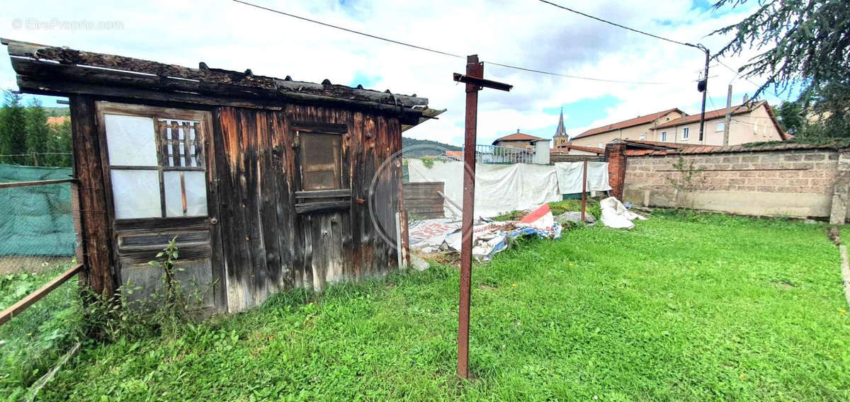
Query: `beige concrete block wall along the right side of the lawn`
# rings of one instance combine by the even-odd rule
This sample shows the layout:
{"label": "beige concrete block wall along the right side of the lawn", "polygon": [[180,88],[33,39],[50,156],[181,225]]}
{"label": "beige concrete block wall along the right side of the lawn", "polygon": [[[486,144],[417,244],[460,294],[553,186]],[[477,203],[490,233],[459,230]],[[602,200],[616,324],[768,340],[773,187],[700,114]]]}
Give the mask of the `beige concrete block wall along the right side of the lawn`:
{"label": "beige concrete block wall along the right side of the lawn", "polygon": [[[680,157],[686,169],[691,163],[694,170],[702,169],[693,173],[689,185],[683,181],[686,173],[673,167]],[[637,205],[826,218],[832,207],[839,151],[770,150],[626,159],[623,200]]]}

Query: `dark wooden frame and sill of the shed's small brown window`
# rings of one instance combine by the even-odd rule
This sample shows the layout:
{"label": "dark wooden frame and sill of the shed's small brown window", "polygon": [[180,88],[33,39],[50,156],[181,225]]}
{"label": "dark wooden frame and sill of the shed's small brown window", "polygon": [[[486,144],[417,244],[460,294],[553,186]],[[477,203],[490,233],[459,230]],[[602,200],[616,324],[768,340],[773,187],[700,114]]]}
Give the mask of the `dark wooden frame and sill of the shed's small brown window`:
{"label": "dark wooden frame and sill of the shed's small brown window", "polygon": [[[351,206],[351,184],[346,183],[345,155],[343,148],[345,139],[348,136],[348,126],[344,124],[322,123],[322,122],[292,122],[290,131],[297,144],[296,150],[296,167],[297,167],[297,186],[295,197],[295,211],[297,213],[321,212],[345,209]],[[334,178],[333,188],[305,188],[305,173],[308,171],[308,161],[305,155],[307,151],[306,144],[309,138],[318,138],[318,136],[329,136],[331,139],[338,138],[338,146],[331,158],[333,166],[331,169],[313,170],[312,172],[334,172],[338,177]],[[327,137],[326,137],[327,138]]]}

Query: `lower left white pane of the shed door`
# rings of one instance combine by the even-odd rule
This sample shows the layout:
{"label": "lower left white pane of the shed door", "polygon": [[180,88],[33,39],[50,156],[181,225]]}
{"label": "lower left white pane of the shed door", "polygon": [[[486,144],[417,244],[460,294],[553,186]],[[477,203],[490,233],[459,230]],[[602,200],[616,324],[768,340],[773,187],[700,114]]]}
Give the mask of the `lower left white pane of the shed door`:
{"label": "lower left white pane of the shed door", "polygon": [[162,216],[156,170],[113,169],[110,177],[116,219]]}

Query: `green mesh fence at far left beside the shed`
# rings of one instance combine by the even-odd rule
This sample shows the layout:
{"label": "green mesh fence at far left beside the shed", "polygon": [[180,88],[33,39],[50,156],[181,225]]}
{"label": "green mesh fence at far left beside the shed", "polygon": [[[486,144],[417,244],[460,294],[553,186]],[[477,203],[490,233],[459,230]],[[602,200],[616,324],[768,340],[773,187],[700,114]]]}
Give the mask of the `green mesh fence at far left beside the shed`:
{"label": "green mesh fence at far left beside the shed", "polygon": [[[0,164],[0,183],[71,174],[69,167]],[[75,241],[70,183],[0,189],[0,258],[72,256]]]}

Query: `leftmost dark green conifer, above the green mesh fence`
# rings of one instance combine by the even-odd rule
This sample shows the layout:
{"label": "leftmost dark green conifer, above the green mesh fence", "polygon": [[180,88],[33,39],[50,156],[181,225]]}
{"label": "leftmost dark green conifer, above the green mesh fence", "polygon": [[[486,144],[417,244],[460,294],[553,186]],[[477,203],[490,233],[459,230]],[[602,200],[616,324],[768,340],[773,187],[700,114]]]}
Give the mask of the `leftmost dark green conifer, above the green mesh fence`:
{"label": "leftmost dark green conifer, above the green mesh fence", "polygon": [[0,109],[0,159],[6,163],[26,164],[26,111],[20,94],[3,91]]}

